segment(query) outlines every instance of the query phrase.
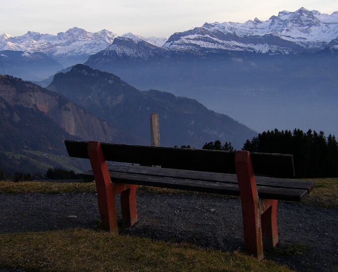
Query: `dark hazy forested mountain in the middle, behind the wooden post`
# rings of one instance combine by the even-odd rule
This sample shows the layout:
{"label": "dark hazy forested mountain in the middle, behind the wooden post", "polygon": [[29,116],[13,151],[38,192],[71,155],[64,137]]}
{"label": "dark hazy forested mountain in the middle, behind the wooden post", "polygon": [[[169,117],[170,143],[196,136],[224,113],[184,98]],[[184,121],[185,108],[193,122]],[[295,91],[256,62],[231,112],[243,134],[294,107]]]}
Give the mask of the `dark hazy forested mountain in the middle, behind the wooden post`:
{"label": "dark hazy forested mountain in the middle, behind the wooden post", "polygon": [[255,132],[227,115],[208,110],[196,100],[162,91],[139,91],[120,78],[76,65],[68,73],[55,75],[48,87],[66,95],[109,124],[149,144],[149,116],[160,116],[163,146],[190,144],[200,148],[207,141],[231,141],[237,148]]}

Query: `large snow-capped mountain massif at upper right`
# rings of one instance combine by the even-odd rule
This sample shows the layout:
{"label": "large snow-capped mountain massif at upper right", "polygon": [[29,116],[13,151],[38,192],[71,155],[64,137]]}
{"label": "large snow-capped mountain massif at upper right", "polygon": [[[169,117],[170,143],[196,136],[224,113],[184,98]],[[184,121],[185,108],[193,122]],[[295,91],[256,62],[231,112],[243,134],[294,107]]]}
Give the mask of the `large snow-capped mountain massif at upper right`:
{"label": "large snow-capped mountain massif at upper right", "polygon": [[171,35],[164,48],[172,50],[235,50],[259,53],[297,53],[337,49],[338,11],[331,15],[304,7],[281,11],[266,21],[205,23]]}

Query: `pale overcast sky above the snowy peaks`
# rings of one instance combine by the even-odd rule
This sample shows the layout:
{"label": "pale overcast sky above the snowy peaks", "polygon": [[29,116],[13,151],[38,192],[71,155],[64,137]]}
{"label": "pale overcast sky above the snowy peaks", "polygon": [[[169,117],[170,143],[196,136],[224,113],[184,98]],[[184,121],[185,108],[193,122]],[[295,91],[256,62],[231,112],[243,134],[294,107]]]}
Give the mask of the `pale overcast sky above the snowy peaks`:
{"label": "pale overcast sky above the snowy peaks", "polygon": [[338,0],[0,0],[0,34],[57,34],[77,26],[169,37],[204,22],[266,20],[302,6],[331,14]]}

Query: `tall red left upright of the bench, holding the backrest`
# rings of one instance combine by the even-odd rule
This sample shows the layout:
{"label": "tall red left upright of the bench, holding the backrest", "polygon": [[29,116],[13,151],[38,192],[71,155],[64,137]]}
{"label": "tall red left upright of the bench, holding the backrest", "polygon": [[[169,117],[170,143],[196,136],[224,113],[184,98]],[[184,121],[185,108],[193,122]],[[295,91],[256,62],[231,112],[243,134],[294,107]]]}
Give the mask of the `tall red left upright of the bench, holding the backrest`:
{"label": "tall red left upright of the bench, holding the backrest", "polygon": [[90,141],[87,151],[95,178],[102,227],[114,234],[118,234],[114,184],[111,183],[100,143]]}

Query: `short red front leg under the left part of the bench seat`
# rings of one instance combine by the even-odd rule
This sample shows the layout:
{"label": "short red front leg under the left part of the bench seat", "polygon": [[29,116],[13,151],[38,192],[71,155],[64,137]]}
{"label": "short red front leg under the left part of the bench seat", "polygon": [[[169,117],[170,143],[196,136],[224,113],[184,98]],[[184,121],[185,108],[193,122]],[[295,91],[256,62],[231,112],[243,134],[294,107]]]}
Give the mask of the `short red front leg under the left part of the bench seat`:
{"label": "short red front leg under the left part of the bench seat", "polygon": [[121,192],[121,211],[124,227],[131,227],[137,222],[136,188],[137,185],[130,185],[129,189]]}

